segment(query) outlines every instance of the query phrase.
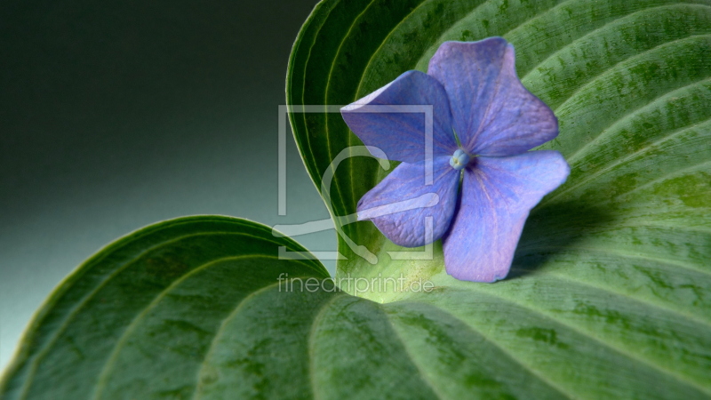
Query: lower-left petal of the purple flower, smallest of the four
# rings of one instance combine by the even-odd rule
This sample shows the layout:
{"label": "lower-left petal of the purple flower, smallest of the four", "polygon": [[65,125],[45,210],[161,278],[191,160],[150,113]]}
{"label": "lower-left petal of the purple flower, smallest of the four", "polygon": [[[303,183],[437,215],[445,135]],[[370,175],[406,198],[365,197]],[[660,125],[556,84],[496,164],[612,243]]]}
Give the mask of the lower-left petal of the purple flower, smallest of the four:
{"label": "lower-left petal of the purple flower, smallest of the four", "polygon": [[[449,157],[433,162],[433,184],[425,185],[425,162],[403,163],[358,202],[358,220],[372,220],[393,243],[430,244],[443,236],[457,204],[459,172]],[[432,218],[428,225],[427,217]],[[426,227],[432,227],[427,232]]]}

